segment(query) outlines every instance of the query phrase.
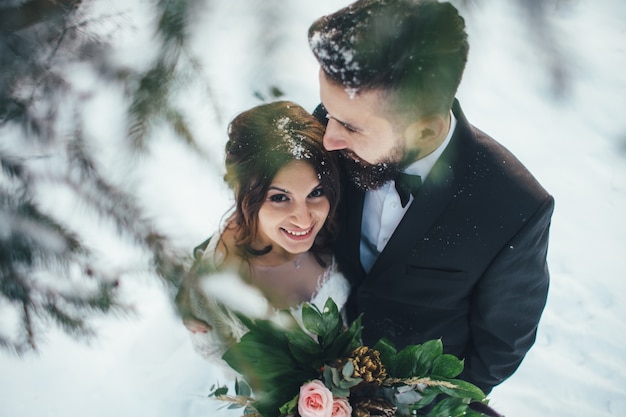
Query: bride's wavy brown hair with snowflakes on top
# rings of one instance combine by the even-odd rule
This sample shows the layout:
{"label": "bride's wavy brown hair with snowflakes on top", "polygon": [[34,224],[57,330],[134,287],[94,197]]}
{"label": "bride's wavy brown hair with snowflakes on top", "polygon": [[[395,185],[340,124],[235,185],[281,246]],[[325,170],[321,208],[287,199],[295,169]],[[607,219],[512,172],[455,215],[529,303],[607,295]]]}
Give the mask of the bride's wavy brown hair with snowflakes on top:
{"label": "bride's wavy brown hair with snowflakes on top", "polygon": [[[335,238],[335,212],[340,197],[339,168],[333,153],[324,149],[324,127],[301,106],[278,101],[239,114],[228,127],[224,180],[235,192],[235,210],[228,219],[235,231],[239,255],[269,252],[252,248],[258,232],[259,210],[276,173],[292,161],[304,161],[315,170],[330,210],[311,248],[329,253]],[[319,260],[319,257],[318,257]]]}

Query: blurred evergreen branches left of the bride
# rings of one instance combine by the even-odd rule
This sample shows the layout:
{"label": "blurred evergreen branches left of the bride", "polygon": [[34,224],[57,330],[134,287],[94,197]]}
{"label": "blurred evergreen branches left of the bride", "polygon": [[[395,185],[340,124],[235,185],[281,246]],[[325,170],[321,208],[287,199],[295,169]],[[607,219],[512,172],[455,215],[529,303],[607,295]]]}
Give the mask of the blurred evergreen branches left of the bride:
{"label": "blurred evergreen branches left of the bride", "polygon": [[[155,3],[158,58],[147,70],[133,70],[117,66],[92,30],[116,25],[111,16],[90,16],[94,1],[0,4],[0,314],[6,318],[0,348],[17,354],[39,349],[51,324],[89,338],[93,318],[130,311],[120,287],[133,273],[159,276],[173,292],[186,268],[187,258],[147,220],[132,189],[103,166],[85,133],[84,108],[98,88],[122,92],[129,127],[126,140],[117,142],[126,160],[149,150],[155,122],[201,153],[172,99],[189,69],[200,70],[183,54],[197,2]],[[98,84],[78,87],[76,68],[87,69]],[[59,193],[76,213],[43,204]],[[87,244],[98,227],[108,227],[120,246],[136,248],[149,261],[120,266],[103,259]]]}

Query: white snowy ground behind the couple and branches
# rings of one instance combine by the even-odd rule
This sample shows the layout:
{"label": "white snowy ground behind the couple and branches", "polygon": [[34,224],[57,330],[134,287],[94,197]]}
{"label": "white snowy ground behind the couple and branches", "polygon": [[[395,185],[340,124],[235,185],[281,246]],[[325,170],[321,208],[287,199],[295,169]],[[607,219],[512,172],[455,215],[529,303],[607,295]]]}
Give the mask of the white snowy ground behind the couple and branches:
{"label": "white snowy ground behind the couple and branches", "polygon": [[[115,59],[141,66],[150,58],[148,3],[94,2],[92,13],[119,8],[121,28],[109,32]],[[225,127],[259,103],[252,92],[278,86],[312,110],[317,66],[306,30],[348,1],[267,1],[265,19],[249,2],[220,0],[199,10],[194,53],[206,89],[181,97],[209,155],[202,159],[167,133],[127,178],[159,227],[182,249],[212,232],[230,207],[220,180]],[[511,149],[556,199],[549,264],[552,284],[537,343],[518,372],[490,395],[507,417],[626,414],[626,4],[623,0],[555,2],[549,7],[554,50],[537,47],[537,27],[511,1],[483,1],[465,12],[470,58],[458,97],[468,119]],[[98,7],[101,10],[98,10]],[[141,18],[139,18],[141,16]],[[278,23],[276,23],[278,22]],[[276,24],[274,24],[276,23]],[[260,47],[258,39],[265,37]],[[539,41],[541,42],[541,41]],[[268,45],[270,47],[268,47]],[[554,98],[545,63],[564,62],[569,89]],[[77,88],[94,79],[77,70]],[[207,99],[210,89],[212,102]],[[90,129],[103,160],[117,157],[122,113],[114,92],[94,95]],[[219,111],[215,111],[218,103]],[[51,198],[61,207],[63,196]],[[103,232],[104,233],[104,232]],[[98,235],[103,258],[132,265],[140,254]],[[132,279],[131,279],[132,278]],[[51,329],[38,354],[0,352],[2,417],[212,417],[205,398],[224,381],[220,369],[193,350],[164,287],[136,273],[122,283],[136,306],[132,317],[98,322],[99,336],[78,343]]]}

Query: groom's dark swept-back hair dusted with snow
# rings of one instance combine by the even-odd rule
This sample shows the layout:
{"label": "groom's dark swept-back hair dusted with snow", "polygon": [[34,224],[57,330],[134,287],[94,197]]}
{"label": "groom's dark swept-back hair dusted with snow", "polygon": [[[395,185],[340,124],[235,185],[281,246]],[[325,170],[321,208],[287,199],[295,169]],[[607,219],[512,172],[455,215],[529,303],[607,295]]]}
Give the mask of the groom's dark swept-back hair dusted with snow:
{"label": "groom's dark swept-back hair dusted with snow", "polygon": [[313,23],[309,45],[329,81],[419,117],[450,110],[469,51],[457,9],[433,0],[356,1]]}

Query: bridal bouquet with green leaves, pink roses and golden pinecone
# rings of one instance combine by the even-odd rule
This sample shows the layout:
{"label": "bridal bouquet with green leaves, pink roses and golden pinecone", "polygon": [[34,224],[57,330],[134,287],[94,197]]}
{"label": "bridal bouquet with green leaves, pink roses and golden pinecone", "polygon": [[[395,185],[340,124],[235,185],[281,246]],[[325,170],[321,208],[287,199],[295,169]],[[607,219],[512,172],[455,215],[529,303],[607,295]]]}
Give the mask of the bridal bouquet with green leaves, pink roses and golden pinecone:
{"label": "bridal bouquet with green leaves, pink roses and golden pinecone", "polygon": [[362,346],[360,318],[346,328],[330,298],[323,311],[303,306],[304,329],[240,319],[250,331],[223,359],[245,381],[237,381],[234,396],[226,387],[211,395],[244,407],[246,416],[392,417],[424,409],[430,417],[498,415],[478,387],[454,379],[463,362],[444,354],[440,340],[400,351],[385,339]]}

